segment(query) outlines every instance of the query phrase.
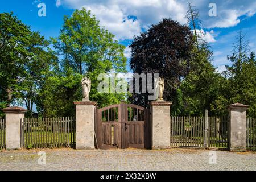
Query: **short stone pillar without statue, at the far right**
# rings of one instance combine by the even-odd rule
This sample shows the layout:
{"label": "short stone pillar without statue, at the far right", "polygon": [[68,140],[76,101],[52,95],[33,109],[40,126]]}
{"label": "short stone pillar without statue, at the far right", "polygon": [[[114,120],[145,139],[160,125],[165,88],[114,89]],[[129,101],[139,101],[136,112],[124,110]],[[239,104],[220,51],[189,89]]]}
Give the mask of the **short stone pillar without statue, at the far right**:
{"label": "short stone pillar without statue, at the far right", "polygon": [[247,105],[240,103],[229,105],[229,150],[246,151],[246,110]]}

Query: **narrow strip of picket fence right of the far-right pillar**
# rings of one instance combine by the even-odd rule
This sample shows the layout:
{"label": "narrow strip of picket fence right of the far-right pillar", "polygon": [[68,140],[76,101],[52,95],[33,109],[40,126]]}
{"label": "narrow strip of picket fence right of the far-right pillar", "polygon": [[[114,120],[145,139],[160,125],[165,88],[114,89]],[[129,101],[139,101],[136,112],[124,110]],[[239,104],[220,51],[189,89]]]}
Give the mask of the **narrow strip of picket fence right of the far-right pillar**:
{"label": "narrow strip of picket fence right of the far-right pillar", "polygon": [[246,118],[247,141],[246,147],[249,150],[256,150],[256,119]]}

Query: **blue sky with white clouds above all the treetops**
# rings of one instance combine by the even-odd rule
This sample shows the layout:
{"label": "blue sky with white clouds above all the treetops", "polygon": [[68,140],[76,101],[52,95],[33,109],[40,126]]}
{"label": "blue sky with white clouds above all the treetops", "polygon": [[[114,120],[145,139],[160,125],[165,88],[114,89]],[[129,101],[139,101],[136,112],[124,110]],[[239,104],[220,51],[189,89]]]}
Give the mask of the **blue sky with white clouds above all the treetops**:
{"label": "blue sky with white clouds above all the treetops", "polygon": [[[39,17],[39,3],[46,5],[46,17]],[[13,11],[20,20],[40,31],[47,39],[59,35],[64,15],[72,15],[73,10],[85,7],[96,15],[101,25],[115,35],[121,44],[128,46],[134,35],[147,30],[150,24],[158,23],[162,18],[172,18],[181,24],[186,23],[187,11],[185,0],[26,0],[1,1],[0,12]],[[217,16],[208,15],[209,3],[216,3]],[[219,71],[224,70],[226,59],[230,55],[237,31],[243,28],[250,41],[251,51],[256,51],[256,1],[192,1],[200,10],[203,22],[204,38],[212,46],[213,65]],[[125,51],[129,59],[130,50]],[[127,67],[129,69],[129,66]]]}

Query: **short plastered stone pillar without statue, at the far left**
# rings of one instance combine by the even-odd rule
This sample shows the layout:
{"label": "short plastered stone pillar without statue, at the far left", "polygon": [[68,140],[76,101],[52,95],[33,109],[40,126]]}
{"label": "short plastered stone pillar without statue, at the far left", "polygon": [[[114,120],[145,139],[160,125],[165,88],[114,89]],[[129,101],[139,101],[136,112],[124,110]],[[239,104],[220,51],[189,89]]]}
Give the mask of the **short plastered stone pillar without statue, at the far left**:
{"label": "short plastered stone pillar without statue, at the far left", "polygon": [[6,122],[6,150],[19,149],[21,143],[20,120],[25,118],[26,109],[18,106],[2,109]]}

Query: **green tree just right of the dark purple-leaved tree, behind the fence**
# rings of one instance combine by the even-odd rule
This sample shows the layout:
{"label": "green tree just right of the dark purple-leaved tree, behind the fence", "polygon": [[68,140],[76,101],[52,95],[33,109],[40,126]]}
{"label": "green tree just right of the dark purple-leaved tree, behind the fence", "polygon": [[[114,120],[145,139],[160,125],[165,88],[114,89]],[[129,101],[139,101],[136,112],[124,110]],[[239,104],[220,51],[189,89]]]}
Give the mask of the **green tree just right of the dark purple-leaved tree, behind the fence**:
{"label": "green tree just right of the dark purple-leaved tree, behind the fence", "polygon": [[203,115],[205,109],[210,111],[211,104],[221,93],[222,77],[210,63],[210,51],[207,48],[193,49],[191,69],[181,83],[185,115]]}

